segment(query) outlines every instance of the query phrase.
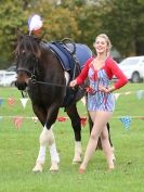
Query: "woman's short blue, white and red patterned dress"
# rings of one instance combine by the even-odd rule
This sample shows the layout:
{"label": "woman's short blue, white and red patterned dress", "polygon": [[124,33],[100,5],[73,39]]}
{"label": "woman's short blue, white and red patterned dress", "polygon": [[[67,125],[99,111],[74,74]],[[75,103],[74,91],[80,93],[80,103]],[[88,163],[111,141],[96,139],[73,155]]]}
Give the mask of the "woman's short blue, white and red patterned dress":
{"label": "woman's short blue, white and red patterned dress", "polygon": [[104,86],[108,88],[109,79],[105,72],[105,67],[100,68],[99,71],[94,69],[92,63],[89,66],[88,77],[90,81],[89,88],[91,91],[88,91],[88,111],[107,111],[114,112],[115,110],[115,97],[113,92],[105,93],[99,90],[99,86]]}

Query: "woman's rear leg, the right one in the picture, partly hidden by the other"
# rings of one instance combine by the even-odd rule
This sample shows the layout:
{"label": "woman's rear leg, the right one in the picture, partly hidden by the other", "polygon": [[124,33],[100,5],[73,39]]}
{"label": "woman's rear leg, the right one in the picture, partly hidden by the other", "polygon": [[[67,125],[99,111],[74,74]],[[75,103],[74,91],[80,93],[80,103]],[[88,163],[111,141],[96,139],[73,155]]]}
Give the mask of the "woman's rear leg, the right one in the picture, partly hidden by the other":
{"label": "woman's rear leg, the right one in the picture, partly hidden by the other", "polygon": [[108,130],[107,130],[106,126],[104,127],[104,129],[101,133],[101,142],[102,142],[102,148],[103,148],[104,154],[107,159],[108,168],[114,169],[114,159],[113,159],[114,153],[113,153],[113,149],[109,143]]}

